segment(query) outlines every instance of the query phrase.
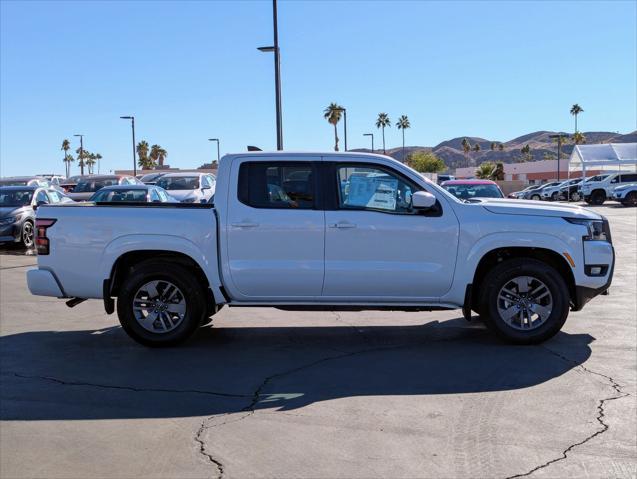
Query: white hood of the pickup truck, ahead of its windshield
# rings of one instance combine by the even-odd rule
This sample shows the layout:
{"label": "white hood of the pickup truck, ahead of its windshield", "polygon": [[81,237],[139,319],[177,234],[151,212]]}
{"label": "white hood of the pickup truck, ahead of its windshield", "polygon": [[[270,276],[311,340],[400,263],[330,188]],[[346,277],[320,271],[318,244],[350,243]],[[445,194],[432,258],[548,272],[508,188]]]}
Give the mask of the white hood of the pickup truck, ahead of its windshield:
{"label": "white hood of the pickup truck, ahead of its windshield", "polygon": [[599,220],[602,217],[581,206],[562,203],[540,203],[539,201],[506,200],[489,198],[480,200],[480,204],[491,213],[501,215],[555,216],[563,218],[582,218]]}

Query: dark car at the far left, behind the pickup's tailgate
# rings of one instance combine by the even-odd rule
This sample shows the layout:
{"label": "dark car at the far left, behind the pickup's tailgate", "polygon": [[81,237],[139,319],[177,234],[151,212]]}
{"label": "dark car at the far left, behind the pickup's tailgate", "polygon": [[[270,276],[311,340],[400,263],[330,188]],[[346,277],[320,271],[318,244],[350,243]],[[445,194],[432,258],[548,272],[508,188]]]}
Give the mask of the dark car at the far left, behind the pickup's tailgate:
{"label": "dark car at the far left, behind the pickup's tailgate", "polygon": [[32,248],[38,206],[68,201],[72,200],[50,187],[0,187],[0,243],[22,243]]}

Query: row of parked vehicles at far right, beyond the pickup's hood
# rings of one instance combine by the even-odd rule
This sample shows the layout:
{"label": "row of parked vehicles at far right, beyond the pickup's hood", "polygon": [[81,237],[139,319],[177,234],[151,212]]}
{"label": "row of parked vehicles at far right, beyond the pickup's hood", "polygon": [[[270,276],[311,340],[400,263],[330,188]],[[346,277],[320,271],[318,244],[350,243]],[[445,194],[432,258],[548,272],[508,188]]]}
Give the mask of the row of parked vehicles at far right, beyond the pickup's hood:
{"label": "row of parked vehicles at far right, beyond the pickup's hood", "polygon": [[637,206],[637,173],[605,173],[588,178],[531,185],[508,196],[524,200],[585,201],[590,205],[601,205],[607,200],[614,200],[624,206]]}

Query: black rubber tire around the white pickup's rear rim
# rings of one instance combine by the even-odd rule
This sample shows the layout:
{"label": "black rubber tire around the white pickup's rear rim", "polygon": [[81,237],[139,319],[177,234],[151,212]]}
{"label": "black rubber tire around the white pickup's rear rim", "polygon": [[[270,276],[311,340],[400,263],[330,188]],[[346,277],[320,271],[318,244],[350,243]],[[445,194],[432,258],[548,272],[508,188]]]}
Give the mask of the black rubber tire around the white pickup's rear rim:
{"label": "black rubber tire around the white pickup's rear rim", "polygon": [[[186,312],[177,327],[168,332],[151,332],[142,327],[133,312],[137,292],[151,281],[168,281],[179,288]],[[174,346],[187,340],[199,327],[206,310],[206,295],[196,276],[185,266],[166,261],[144,261],[136,265],[122,284],[117,298],[117,316],[126,333],[144,346]]]}

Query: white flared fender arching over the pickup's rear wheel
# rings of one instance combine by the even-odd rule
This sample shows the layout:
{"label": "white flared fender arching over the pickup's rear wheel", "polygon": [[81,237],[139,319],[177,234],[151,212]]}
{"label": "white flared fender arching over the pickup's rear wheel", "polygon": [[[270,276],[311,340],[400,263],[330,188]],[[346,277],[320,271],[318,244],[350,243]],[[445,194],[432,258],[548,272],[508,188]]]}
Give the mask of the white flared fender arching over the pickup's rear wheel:
{"label": "white flared fender arching over the pickup's rear wheel", "polygon": [[221,281],[216,241],[211,241],[206,251],[183,236],[133,234],[120,236],[106,245],[99,263],[99,274],[108,279],[118,258],[132,251],[169,251],[191,258],[202,269],[217,303],[225,302],[219,290]]}

